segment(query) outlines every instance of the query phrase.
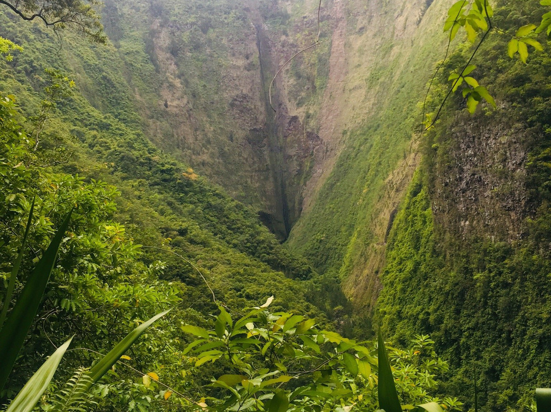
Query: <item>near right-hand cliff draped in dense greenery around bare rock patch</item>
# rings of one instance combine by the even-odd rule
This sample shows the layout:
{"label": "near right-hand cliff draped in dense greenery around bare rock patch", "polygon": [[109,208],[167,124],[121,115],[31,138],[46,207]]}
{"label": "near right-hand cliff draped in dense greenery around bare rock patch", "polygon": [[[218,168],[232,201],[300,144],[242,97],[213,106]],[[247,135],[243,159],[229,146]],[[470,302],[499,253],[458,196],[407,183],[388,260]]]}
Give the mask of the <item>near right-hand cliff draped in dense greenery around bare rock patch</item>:
{"label": "near right-hand cliff draped in dense greenery around bare rock patch", "polygon": [[[377,302],[383,330],[398,341],[431,334],[460,371],[449,390],[469,405],[476,365],[483,410],[530,410],[533,390],[551,384],[549,56],[531,53],[527,66],[507,56],[518,27],[541,10],[536,1],[525,2],[523,14],[516,2],[495,8],[494,24],[507,35],[489,37],[474,62],[499,110],[467,117],[459,94],[428,134],[390,235]],[[450,57],[441,84],[471,51]],[[444,89],[435,90],[439,101]]]}

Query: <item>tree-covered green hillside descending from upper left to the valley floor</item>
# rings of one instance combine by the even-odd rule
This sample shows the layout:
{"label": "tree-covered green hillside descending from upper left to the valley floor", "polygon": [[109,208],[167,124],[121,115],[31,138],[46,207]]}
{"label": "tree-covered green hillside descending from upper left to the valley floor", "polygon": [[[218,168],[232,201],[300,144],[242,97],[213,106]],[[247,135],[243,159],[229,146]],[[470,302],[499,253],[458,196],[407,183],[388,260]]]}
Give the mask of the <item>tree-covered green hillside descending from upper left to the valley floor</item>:
{"label": "tree-covered green hillside descending from upper left to the valley floor", "polygon": [[[24,275],[76,207],[40,320],[3,399],[13,397],[52,345],[75,334],[85,348],[109,349],[161,308],[181,308],[171,322],[201,324],[217,302],[242,308],[274,295],[276,310],[320,315],[307,303],[311,286],[301,281],[314,274],[309,264],[285,250],[255,210],[149,141],[114,47],[71,35],[60,44],[39,24],[7,13],[0,20],[1,35],[24,48],[13,52],[13,61],[0,62],[3,279],[21,247],[34,197]],[[323,324],[323,315],[319,319]],[[164,330],[164,338],[150,335],[134,352],[143,367],[181,362],[171,351],[163,359],[151,354],[163,339],[179,341],[174,327]],[[66,356],[64,371],[91,364],[93,356]],[[123,373],[105,394],[128,391],[126,404],[141,396],[129,376]]]}

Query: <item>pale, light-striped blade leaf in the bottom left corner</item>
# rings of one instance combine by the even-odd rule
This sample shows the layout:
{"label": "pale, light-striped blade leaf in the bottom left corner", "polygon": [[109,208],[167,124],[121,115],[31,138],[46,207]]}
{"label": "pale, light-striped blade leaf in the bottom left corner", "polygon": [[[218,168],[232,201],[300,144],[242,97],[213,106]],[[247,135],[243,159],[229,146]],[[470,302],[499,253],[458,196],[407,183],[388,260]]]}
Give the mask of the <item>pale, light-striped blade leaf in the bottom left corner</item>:
{"label": "pale, light-striped blade leaf in the bottom left corner", "polygon": [[56,372],[61,362],[61,358],[71,344],[72,339],[73,338],[67,340],[66,343],[60,346],[60,348],[42,364],[39,370],[31,376],[27,383],[25,383],[23,389],[17,394],[12,403],[9,404],[6,412],[30,412],[34,409],[42,393],[46,391],[48,384],[50,384],[53,374]]}

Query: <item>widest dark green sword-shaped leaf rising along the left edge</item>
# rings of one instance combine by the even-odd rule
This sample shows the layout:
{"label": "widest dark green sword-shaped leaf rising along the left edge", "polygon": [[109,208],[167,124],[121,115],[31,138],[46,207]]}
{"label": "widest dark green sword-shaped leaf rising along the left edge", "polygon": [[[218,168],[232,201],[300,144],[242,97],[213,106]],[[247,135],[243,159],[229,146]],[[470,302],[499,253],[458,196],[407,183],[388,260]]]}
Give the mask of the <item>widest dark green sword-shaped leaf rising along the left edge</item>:
{"label": "widest dark green sword-shaped leaf rising along the left edge", "polygon": [[0,368],[0,390],[6,384],[19,350],[23,346],[26,335],[33,324],[72,213],[73,210],[69,212],[50,242],[50,246],[42,254],[40,261],[30,273],[21,295],[15,302],[12,313],[10,313],[0,331],[0,354],[3,360],[3,365]]}

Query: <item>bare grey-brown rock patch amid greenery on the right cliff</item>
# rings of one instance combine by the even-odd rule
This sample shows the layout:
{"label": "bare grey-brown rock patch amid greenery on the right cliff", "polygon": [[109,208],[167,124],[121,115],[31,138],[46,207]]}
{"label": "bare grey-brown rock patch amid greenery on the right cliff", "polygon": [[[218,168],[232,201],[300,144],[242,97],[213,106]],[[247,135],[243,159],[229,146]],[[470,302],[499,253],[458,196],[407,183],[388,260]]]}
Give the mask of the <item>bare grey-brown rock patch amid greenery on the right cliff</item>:
{"label": "bare grey-brown rock patch amid greenery on the right cliff", "polygon": [[498,114],[475,121],[462,116],[447,135],[444,147],[434,148],[440,151],[432,188],[437,224],[464,240],[521,239],[523,220],[535,212],[527,188],[534,131],[514,116]]}

